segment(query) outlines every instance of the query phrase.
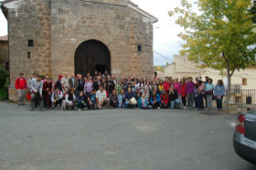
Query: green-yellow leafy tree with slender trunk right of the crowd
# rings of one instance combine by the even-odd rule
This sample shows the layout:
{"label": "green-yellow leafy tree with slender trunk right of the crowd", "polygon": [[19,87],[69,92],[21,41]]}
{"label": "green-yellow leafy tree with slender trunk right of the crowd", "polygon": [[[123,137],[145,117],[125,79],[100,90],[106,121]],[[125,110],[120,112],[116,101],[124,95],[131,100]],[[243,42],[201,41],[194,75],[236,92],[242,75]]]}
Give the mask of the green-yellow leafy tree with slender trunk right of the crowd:
{"label": "green-yellow leafy tree with slender trunk right of the crowd", "polygon": [[255,65],[255,25],[252,23],[251,0],[197,0],[195,7],[181,0],[181,7],[170,11],[178,15],[183,27],[181,55],[187,55],[202,67],[227,71],[229,104],[231,77],[235,70]]}

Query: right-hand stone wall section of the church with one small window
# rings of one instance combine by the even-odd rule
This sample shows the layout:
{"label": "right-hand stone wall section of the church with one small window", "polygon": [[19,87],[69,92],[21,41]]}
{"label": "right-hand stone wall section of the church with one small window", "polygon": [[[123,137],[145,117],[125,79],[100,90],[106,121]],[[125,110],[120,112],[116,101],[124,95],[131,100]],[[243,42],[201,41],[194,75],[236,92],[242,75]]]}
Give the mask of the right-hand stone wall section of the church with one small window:
{"label": "right-hand stone wall section of the church with one small window", "polygon": [[[145,16],[131,9],[130,13],[131,69],[137,77],[154,77],[153,25]],[[138,51],[141,46],[141,51]]]}

